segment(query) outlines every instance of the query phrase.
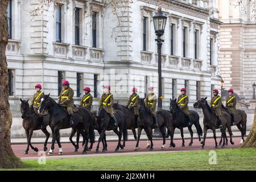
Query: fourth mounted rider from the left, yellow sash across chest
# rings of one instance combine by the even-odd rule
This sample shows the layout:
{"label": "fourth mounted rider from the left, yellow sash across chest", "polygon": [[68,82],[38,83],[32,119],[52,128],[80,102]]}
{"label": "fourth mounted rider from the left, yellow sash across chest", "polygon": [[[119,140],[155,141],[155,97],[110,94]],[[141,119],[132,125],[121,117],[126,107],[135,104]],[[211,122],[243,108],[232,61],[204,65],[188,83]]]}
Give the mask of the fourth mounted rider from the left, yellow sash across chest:
{"label": "fourth mounted rider from the left, yellow sash across chest", "polygon": [[110,86],[105,85],[104,86],[104,93],[101,95],[101,100],[99,102],[99,107],[103,107],[106,111],[106,113],[109,113],[110,117],[112,117],[112,121],[114,126],[117,126],[117,119],[115,118],[115,112],[113,109],[113,104],[114,104],[114,98],[113,94],[110,93]]}

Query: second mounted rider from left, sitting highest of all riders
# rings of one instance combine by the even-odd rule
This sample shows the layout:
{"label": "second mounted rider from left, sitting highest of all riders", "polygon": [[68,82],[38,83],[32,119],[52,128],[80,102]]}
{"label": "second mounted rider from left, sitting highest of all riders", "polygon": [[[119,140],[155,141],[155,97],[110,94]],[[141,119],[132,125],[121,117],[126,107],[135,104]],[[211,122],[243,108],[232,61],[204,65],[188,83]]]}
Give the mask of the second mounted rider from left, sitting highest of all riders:
{"label": "second mounted rider from left, sitting highest of all riders", "polygon": [[67,80],[64,80],[62,82],[62,86],[64,90],[60,92],[59,99],[57,101],[57,104],[64,107],[64,109],[67,109],[68,112],[68,120],[69,125],[73,125],[73,111],[76,111],[76,108],[74,106],[74,90],[69,86],[69,82]]}

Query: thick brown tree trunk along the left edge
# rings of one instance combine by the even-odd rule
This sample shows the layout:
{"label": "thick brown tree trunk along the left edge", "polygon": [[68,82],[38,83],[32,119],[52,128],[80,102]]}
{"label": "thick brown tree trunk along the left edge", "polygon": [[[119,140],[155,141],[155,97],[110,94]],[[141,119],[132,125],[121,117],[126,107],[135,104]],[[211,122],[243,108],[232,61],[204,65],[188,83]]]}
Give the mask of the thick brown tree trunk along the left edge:
{"label": "thick brown tree trunk along the left edge", "polygon": [[8,71],[5,56],[8,41],[7,5],[9,0],[0,1],[0,168],[19,168],[22,162],[11,148],[10,129],[12,123],[9,106]]}

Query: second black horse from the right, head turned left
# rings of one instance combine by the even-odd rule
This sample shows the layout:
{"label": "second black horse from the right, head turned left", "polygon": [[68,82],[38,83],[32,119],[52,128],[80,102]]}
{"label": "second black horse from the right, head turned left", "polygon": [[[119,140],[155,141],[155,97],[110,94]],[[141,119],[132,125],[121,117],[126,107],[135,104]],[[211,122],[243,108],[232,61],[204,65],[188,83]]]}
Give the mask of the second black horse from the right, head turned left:
{"label": "second black horse from the right, head turned left", "polygon": [[[215,148],[218,148],[217,145],[217,140],[216,140],[216,129],[219,129],[220,126],[217,121],[217,117],[214,114],[213,110],[210,108],[207,102],[207,97],[201,98],[198,100],[195,104],[193,104],[195,108],[201,108],[203,109],[204,113],[204,140],[201,142],[202,146],[201,148],[203,149],[205,146],[205,138],[207,136],[207,130],[212,130],[213,131],[213,138],[215,140]],[[224,138],[224,142],[222,144],[222,147],[225,146],[225,139],[226,139],[226,128],[228,128],[229,135],[230,135],[230,143],[234,144],[232,141],[232,130],[231,130],[231,117],[228,113],[225,111],[221,111],[221,117],[219,117],[221,121],[221,125],[223,126],[223,129],[221,129],[221,138]],[[228,139],[226,139],[228,140]],[[226,143],[228,144],[228,143]]]}

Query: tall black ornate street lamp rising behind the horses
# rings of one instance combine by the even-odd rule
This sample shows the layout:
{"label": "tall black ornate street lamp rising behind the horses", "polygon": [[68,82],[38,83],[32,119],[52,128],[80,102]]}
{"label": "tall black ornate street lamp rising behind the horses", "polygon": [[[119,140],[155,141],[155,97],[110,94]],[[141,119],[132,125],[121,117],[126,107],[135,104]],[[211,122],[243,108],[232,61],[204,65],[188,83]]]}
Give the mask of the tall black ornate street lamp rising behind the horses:
{"label": "tall black ornate street lamp rising behind the horses", "polygon": [[158,36],[155,41],[158,44],[158,109],[162,108],[162,60],[161,60],[161,49],[162,42],[161,36],[164,34],[164,28],[166,27],[167,16],[164,16],[162,9],[159,7],[158,12],[153,16],[153,23],[155,28],[155,34]]}

